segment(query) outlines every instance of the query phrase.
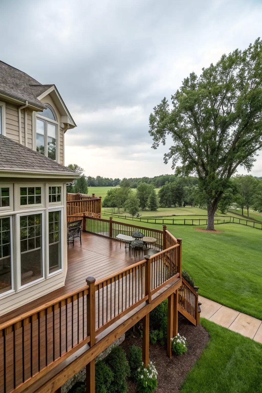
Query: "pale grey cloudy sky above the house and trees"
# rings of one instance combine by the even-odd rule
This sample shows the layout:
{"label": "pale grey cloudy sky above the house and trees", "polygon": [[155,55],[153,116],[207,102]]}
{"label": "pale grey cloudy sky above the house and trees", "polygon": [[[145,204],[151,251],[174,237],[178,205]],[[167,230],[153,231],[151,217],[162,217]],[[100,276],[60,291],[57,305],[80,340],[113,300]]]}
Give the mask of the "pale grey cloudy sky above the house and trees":
{"label": "pale grey cloudy sky above the house and trees", "polygon": [[[169,143],[151,149],[152,108],[191,71],[254,42],[262,2],[2,0],[0,22],[1,60],[55,83],[77,123],[66,164],[91,176],[155,176],[172,170]],[[262,155],[252,173],[262,176]]]}

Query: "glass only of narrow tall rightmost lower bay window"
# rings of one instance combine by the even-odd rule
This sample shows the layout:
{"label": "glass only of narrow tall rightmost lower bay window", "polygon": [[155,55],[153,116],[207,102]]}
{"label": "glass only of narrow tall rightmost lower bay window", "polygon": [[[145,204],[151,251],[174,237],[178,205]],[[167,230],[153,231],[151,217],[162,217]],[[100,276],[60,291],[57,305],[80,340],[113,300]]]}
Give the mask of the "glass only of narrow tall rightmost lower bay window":
{"label": "glass only of narrow tall rightmost lower bay window", "polygon": [[[61,269],[61,212],[50,211],[49,219],[49,273]],[[55,230],[55,231],[54,231]]]}

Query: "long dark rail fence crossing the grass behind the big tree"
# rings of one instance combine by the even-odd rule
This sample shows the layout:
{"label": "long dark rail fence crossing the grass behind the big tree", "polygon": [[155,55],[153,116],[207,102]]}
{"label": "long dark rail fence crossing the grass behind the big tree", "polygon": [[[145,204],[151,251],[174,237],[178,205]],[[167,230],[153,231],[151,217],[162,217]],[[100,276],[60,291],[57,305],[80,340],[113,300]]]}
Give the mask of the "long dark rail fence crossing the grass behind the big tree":
{"label": "long dark rail fence crossing the grass behind the big tree", "polygon": [[[105,214],[106,215],[106,214]],[[161,224],[161,225],[207,225],[207,219],[165,219],[165,218],[146,218],[146,217],[130,217],[123,215],[111,214],[111,217],[122,218],[129,221],[146,222],[148,224]],[[224,219],[214,219],[214,224],[241,224],[262,230],[262,223],[254,222],[238,217],[225,216]],[[250,224],[249,224],[250,223]]]}

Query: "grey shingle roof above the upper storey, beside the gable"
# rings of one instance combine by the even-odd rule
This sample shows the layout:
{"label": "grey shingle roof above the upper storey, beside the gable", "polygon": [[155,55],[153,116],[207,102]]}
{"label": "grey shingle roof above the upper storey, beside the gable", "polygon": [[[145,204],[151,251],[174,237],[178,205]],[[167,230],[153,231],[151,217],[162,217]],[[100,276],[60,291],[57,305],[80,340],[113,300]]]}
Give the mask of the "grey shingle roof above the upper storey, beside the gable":
{"label": "grey shingle roof above the upper storey, beside the gable", "polygon": [[37,97],[51,86],[53,84],[43,85],[25,72],[0,61],[0,91],[3,93],[27,100],[38,107],[46,108]]}

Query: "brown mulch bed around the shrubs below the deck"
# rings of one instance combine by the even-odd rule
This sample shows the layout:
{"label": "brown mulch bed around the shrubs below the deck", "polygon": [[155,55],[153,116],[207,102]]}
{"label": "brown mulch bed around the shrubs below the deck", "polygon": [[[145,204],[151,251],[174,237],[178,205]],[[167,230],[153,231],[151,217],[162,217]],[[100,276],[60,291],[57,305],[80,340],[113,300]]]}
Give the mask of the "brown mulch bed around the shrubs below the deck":
{"label": "brown mulch bed around the shrubs below the deck", "polygon": [[[187,339],[187,353],[167,357],[166,348],[159,343],[150,344],[149,356],[158,371],[158,388],[156,393],[178,393],[183,384],[185,376],[200,357],[206,343],[209,341],[209,334],[202,325],[193,326],[182,315],[179,314],[178,332]],[[128,353],[131,345],[142,347],[142,339],[131,336],[125,339],[121,347]],[[135,393],[136,384],[128,381],[128,393]]]}

